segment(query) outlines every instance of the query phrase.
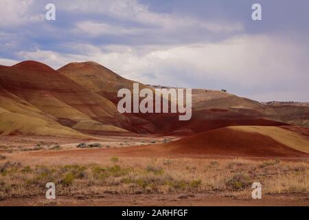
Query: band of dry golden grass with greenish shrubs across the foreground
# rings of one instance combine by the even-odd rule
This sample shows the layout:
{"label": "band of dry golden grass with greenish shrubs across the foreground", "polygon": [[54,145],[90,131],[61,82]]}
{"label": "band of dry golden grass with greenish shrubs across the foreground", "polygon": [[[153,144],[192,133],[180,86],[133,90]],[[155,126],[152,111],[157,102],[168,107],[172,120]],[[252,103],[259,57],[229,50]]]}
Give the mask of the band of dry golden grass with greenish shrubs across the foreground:
{"label": "band of dry golden grass with greenish shrubs across the foreground", "polygon": [[0,165],[0,198],[45,195],[45,184],[57,195],[94,197],[103,193],[219,192],[250,197],[251,184],[263,194],[309,193],[309,163],[249,159],[138,159],[111,157],[104,164],[24,166]]}

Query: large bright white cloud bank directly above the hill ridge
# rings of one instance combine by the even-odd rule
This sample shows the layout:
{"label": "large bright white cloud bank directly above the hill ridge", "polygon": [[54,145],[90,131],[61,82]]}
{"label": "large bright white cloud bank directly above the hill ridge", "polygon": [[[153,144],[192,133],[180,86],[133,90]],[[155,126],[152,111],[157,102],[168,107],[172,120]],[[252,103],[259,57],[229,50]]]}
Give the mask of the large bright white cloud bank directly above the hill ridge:
{"label": "large bright white cloud bank directly above the hill ridge", "polygon": [[[73,61],[95,61],[143,83],[221,89],[231,85],[244,96],[259,100],[285,99],[286,90],[301,93],[309,81],[309,52],[280,36],[239,36],[220,43],[130,47],[71,45],[82,51],[60,54],[52,51],[20,52],[26,59],[60,67]],[[151,50],[152,49],[152,50]],[[215,82],[211,84],[210,82]],[[226,88],[229,89],[229,88]],[[235,88],[234,88],[235,89]],[[234,91],[236,92],[236,91]],[[265,94],[273,94],[273,97]],[[280,96],[279,94],[282,94]]]}

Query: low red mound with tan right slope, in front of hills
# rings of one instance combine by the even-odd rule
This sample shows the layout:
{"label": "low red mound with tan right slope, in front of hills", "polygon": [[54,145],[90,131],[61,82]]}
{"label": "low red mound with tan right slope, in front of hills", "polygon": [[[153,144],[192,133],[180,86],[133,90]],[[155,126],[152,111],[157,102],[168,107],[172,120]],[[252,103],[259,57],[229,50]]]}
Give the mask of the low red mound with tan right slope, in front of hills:
{"label": "low red mound with tan right slope, in front of hills", "polygon": [[279,126],[227,126],[166,144],[127,149],[154,155],[308,157],[309,137]]}

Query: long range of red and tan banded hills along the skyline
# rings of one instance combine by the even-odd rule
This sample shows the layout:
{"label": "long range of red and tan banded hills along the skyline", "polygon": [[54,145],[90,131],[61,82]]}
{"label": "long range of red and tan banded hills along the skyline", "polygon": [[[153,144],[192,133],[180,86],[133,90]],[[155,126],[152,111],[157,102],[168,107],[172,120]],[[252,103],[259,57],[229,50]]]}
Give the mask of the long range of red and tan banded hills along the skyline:
{"label": "long range of red and tan banded hills along the skyline", "polygon": [[36,61],[0,66],[0,133],[187,136],[225,126],[309,124],[308,106],[263,104],[206,89],[192,89],[190,121],[179,121],[174,113],[120,114],[117,91],[132,90],[133,83],[93,62],[69,63],[58,70]]}

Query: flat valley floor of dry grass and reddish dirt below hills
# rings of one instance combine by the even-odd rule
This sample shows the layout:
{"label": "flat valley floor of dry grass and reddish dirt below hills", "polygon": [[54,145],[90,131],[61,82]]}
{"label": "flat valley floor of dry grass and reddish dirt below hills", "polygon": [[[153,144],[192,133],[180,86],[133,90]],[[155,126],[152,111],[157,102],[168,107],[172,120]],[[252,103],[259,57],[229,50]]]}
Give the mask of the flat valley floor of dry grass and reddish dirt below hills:
{"label": "flat valley floor of dry grass and reddish dirt below hills", "polygon": [[[0,206],[309,206],[308,157],[157,150],[176,139],[0,137]],[[81,142],[100,147],[77,148]],[[50,181],[55,200],[45,199]],[[251,197],[255,181],[262,199]]]}

